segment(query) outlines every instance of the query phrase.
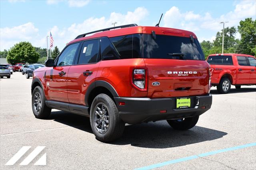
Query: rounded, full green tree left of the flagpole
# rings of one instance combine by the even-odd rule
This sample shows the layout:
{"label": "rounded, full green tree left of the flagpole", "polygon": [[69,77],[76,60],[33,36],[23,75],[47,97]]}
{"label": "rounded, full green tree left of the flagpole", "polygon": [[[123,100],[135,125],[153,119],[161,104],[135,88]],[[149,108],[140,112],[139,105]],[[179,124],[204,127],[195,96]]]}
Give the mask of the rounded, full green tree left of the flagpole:
{"label": "rounded, full green tree left of the flagpole", "polygon": [[38,59],[39,54],[30,42],[16,43],[7,54],[7,61],[11,64],[36,63]]}

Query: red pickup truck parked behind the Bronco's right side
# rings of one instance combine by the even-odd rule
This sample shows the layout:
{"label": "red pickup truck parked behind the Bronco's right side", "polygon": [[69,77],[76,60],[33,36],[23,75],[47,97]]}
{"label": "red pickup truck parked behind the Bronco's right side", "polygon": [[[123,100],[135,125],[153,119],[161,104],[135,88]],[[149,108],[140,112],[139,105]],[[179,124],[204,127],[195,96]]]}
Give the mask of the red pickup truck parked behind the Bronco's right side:
{"label": "red pickup truck parked behind the Bronco's right side", "polygon": [[228,93],[231,85],[256,85],[256,59],[246,54],[211,54],[207,58],[212,73],[212,86]]}

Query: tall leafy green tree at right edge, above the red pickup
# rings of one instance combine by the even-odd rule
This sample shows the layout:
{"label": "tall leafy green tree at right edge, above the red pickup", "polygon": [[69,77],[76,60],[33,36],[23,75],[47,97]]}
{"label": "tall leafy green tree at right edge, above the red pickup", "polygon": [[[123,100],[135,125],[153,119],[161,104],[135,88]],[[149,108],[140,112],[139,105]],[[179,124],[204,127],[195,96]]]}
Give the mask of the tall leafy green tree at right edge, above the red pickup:
{"label": "tall leafy green tree at right edge, above the red pickup", "polygon": [[241,41],[238,44],[238,52],[256,55],[256,20],[246,18],[241,20],[238,26],[238,32],[241,35]]}

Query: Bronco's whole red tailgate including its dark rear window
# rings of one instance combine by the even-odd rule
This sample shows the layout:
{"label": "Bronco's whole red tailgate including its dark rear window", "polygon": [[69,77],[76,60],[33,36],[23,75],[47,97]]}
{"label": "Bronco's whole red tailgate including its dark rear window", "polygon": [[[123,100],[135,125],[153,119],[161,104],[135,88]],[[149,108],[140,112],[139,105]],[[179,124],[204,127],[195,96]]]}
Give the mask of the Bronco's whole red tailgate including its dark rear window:
{"label": "Bronco's whole red tailgate including its dark rear window", "polygon": [[208,93],[209,65],[197,39],[143,35],[148,68],[148,97],[184,97]]}

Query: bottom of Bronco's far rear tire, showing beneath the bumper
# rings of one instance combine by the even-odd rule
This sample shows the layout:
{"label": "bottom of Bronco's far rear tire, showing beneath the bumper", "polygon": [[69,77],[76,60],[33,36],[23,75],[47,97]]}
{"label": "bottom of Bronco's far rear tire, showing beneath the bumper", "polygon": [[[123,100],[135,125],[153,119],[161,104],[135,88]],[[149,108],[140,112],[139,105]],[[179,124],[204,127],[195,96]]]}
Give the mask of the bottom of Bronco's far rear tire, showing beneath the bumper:
{"label": "bottom of Bronco's far rear tire, showing beneath the bumper", "polygon": [[187,117],[178,120],[166,120],[168,124],[176,130],[188,130],[194,127],[199,119],[199,116],[196,117]]}

